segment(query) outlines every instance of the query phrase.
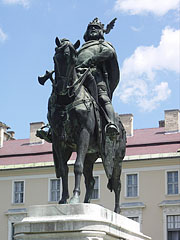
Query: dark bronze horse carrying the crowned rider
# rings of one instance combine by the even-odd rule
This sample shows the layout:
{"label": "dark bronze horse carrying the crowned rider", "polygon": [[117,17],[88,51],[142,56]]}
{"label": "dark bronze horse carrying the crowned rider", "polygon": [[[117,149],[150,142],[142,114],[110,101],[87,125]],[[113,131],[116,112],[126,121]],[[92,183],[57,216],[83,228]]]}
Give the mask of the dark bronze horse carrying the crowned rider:
{"label": "dark bronze horse carrying the crowned rider", "polygon": [[[102,134],[98,133],[103,121],[98,126],[97,116],[99,107],[95,98],[91,96],[84,82],[90,76],[89,69],[82,69],[84,74],[78,77],[76,71],[77,51],[80,42],[74,45],[67,39],[56,38],[54,71],[46,72],[53,83],[52,94],[48,103],[48,121],[51,127],[51,139],[54,164],[57,178],[62,178],[62,198],[60,204],[67,203],[68,192],[68,165],[67,162],[72,152],[77,153],[74,164],[75,186],[70,203],[78,203],[80,196],[81,176],[84,174],[86,194],[85,203],[89,203],[94,187],[93,165],[97,158],[101,157],[106,175],[108,188],[115,192],[115,209],[120,212],[119,198],[121,190],[121,168],[125,155],[126,134],[119,119],[116,116],[116,124],[119,135],[113,141],[113,153],[110,161],[107,159],[108,146],[103,142]],[[47,80],[46,78],[46,80]],[[41,83],[44,84],[44,83]],[[103,127],[102,127],[103,129]],[[110,146],[110,149],[112,149]],[[108,160],[108,161],[107,161]]]}

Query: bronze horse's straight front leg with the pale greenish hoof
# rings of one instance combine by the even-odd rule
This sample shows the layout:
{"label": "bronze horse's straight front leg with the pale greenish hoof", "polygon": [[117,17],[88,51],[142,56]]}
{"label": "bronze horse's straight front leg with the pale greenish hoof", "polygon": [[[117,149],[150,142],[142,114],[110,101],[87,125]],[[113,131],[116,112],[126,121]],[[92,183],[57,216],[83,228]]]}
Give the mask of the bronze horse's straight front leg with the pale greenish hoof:
{"label": "bronze horse's straight front leg with the pale greenish hoof", "polygon": [[88,130],[83,128],[77,144],[77,158],[74,165],[75,187],[73,191],[73,197],[71,198],[70,203],[79,203],[81,176],[83,173],[84,159],[89,147],[89,139],[90,134]]}

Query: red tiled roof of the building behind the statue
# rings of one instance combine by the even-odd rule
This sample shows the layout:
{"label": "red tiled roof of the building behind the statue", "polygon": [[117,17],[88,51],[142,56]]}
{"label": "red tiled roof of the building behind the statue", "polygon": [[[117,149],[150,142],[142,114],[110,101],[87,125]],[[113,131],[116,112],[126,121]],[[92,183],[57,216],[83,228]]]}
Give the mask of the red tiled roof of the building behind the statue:
{"label": "red tiled roof of the building behind the statue", "polygon": [[[175,153],[180,149],[180,133],[166,134],[164,128],[134,130],[134,136],[127,138],[126,156]],[[71,160],[75,159],[73,153]],[[29,144],[29,139],[4,142],[0,149],[0,165],[53,162],[50,143]]]}

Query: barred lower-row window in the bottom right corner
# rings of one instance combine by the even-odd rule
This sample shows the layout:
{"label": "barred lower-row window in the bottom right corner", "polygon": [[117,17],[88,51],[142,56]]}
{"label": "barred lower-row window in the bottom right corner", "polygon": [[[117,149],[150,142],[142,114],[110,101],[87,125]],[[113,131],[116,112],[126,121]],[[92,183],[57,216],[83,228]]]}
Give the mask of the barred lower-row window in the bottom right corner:
{"label": "barred lower-row window in the bottom right corner", "polygon": [[180,239],[180,215],[167,216],[168,240]]}

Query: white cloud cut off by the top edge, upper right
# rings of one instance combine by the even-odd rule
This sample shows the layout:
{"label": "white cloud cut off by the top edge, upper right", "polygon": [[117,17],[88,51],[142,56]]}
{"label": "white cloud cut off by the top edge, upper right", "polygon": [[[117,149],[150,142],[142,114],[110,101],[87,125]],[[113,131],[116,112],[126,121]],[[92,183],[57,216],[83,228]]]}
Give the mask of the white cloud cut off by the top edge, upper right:
{"label": "white cloud cut off by the top edge, upper right", "polygon": [[153,13],[158,16],[179,8],[179,0],[116,0],[115,10],[131,15]]}

